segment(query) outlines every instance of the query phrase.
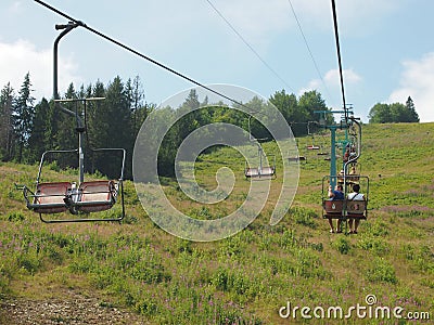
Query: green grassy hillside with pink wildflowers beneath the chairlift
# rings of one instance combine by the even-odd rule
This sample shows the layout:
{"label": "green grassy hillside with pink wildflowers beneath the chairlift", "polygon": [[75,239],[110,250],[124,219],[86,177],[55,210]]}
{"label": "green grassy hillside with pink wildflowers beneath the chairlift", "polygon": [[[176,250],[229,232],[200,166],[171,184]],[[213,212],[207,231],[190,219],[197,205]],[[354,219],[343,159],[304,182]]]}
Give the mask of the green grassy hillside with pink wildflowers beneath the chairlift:
{"label": "green grassy hillside with pink wildflowers beneath the chairlift", "polygon": [[[126,182],[127,218],[122,225],[43,224],[25,209],[13,186],[31,184],[37,167],[0,165],[0,298],[20,303],[62,299],[73,291],[97,297],[103,307],[132,311],[143,323],[289,324],[303,318],[299,310],[295,320],[279,315],[288,302],[326,312],[340,306],[346,313],[357,304],[368,307],[366,297],[374,295],[373,307],[401,307],[403,316],[430,312],[432,320],[434,125],[363,127],[360,165],[371,180],[371,210],[358,235],[329,233],[320,207],[329,162],[303,150],[311,138],[298,141],[307,162],[301,165],[290,212],[278,225],[268,225],[276,200],[271,197],[247,229],[214,243],[182,240],[158,229],[145,216],[131,182]],[[328,148],[327,136],[314,141]],[[272,144],[265,150],[272,152]],[[189,203],[170,180],[166,193],[179,209],[197,218],[227,213],[241,205],[248,186],[242,178],[244,164],[225,148],[201,157],[197,179],[213,188],[214,171],[221,166],[241,179],[227,206]],[[51,166],[46,178],[74,180],[74,172]],[[362,324],[367,318],[354,311],[347,322]],[[8,315],[0,312],[1,320]],[[369,318],[370,324],[406,322]]]}

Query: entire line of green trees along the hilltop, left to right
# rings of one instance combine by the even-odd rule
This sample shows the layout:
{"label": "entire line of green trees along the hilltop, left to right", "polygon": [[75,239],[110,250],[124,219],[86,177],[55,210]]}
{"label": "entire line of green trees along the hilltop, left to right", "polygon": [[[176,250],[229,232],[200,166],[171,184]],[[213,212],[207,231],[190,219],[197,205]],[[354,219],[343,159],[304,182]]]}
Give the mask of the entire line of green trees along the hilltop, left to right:
{"label": "entire line of green trees along the hilltop, left to right", "polygon": [[[59,103],[55,103],[52,99],[41,99],[35,104],[31,87],[30,75],[27,74],[17,92],[10,83],[5,84],[1,90],[0,159],[2,161],[35,164],[40,160],[42,153],[47,151],[74,150],[78,146],[76,119],[63,114],[59,109]],[[117,76],[107,84],[103,84],[98,80],[86,87],[81,84],[78,89],[71,83],[66,92],[61,96],[63,100],[87,98],[104,98],[105,100],[87,101],[86,106],[81,101],[62,103],[65,108],[75,112],[86,121],[84,146],[88,154],[85,156],[85,171],[99,171],[111,178],[117,177],[120,169],[120,157],[97,154],[91,148],[122,147],[127,151],[124,176],[127,179],[131,179],[132,151],[137,134],[142,122],[156,109],[156,105],[144,101],[144,90],[139,76],[127,81],[123,81]],[[315,113],[315,110],[330,110],[322,95],[316,90],[307,91],[299,98],[281,90],[275,92],[269,98],[269,101],[253,98],[248,103],[244,104],[254,107],[256,112],[260,112],[267,109],[267,105],[270,105],[270,103],[283,115],[295,136],[311,132],[312,130],[309,130],[308,122],[320,122],[324,116],[327,123],[334,122],[332,114],[320,116]],[[378,118],[385,110],[384,105],[378,105],[371,109],[370,117],[372,122],[383,122],[384,120]],[[405,107],[409,107],[409,105],[407,103]],[[190,91],[180,107],[168,107],[167,114],[177,115],[184,109],[190,112],[191,108],[203,106],[206,106],[206,108],[186,115],[165,135],[158,152],[159,174],[169,177],[174,174],[176,151],[186,136],[196,128],[213,122],[227,122],[248,131],[248,116],[245,113],[225,107],[222,103],[208,103],[207,98],[201,102],[195,90]],[[400,112],[401,107],[399,106],[400,108],[397,109],[396,106],[393,105],[390,110]],[[411,112],[417,116],[414,109]],[[252,119],[250,131],[257,139],[270,138],[268,130],[255,119]],[[77,153],[53,155],[51,161],[59,168],[77,168]]]}

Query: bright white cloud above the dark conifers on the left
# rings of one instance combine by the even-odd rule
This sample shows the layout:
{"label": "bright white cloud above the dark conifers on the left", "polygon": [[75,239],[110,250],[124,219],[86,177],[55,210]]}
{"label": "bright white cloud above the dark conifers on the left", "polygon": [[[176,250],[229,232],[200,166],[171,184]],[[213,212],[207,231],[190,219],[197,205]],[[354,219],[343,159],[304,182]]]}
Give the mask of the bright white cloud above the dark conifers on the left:
{"label": "bright white cloud above the dark conifers on the left", "polygon": [[[52,50],[37,50],[27,40],[17,40],[13,43],[0,42],[0,87],[11,82],[15,91],[20,90],[24,76],[30,73],[33,95],[40,100],[42,96],[51,99],[53,89],[53,58]],[[59,90],[62,93],[71,82],[82,83],[81,78],[75,75],[77,69],[72,57],[59,58]]]}

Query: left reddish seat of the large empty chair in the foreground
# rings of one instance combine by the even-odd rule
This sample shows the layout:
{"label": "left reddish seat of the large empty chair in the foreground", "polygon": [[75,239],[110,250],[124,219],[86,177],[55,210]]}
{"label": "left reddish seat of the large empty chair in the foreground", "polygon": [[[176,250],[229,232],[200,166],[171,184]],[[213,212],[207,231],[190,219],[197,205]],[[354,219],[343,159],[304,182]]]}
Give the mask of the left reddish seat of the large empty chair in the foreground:
{"label": "left reddish seat of the large empty chair in the foreground", "polygon": [[69,182],[39,183],[27,208],[39,213],[59,213],[67,210],[65,197],[71,192]]}

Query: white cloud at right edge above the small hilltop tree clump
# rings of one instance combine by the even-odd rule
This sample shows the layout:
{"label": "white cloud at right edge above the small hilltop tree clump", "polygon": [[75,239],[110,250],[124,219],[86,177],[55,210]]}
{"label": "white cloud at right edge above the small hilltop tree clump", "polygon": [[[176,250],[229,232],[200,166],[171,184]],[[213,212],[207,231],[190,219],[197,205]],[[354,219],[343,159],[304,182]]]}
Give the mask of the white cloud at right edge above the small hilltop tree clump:
{"label": "white cloud at right edge above the small hilltop tree clump", "polygon": [[434,52],[419,61],[404,61],[400,86],[388,96],[390,103],[405,103],[408,96],[414,102],[420,120],[434,121]]}

